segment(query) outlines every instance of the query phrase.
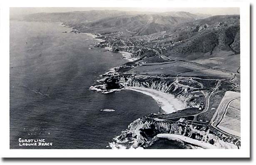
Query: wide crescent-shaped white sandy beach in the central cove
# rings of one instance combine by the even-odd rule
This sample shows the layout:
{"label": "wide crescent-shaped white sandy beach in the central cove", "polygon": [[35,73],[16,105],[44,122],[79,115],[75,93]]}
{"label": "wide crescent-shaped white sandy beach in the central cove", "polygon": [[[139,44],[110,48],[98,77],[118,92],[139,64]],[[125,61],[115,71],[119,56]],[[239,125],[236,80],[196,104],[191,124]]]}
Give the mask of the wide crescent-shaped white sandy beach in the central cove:
{"label": "wide crescent-shaped white sandy beach in the central cove", "polygon": [[151,96],[158,102],[159,106],[167,114],[186,108],[186,104],[184,104],[179,99],[176,99],[173,95],[168,93],[164,93],[158,90],[153,90],[145,87],[125,87],[124,89],[142,92],[145,95]]}

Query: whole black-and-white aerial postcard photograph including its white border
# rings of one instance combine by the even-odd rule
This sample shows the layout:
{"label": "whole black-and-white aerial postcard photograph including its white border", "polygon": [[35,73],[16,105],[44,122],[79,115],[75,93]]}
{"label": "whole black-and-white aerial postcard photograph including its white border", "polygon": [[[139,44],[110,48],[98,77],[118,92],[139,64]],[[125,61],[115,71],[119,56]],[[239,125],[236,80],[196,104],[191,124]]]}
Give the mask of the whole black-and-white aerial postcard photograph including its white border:
{"label": "whole black-and-white aerial postcard photograph including its white border", "polygon": [[23,6],[9,14],[10,151],[247,143],[241,59],[250,48],[240,47],[240,7]]}

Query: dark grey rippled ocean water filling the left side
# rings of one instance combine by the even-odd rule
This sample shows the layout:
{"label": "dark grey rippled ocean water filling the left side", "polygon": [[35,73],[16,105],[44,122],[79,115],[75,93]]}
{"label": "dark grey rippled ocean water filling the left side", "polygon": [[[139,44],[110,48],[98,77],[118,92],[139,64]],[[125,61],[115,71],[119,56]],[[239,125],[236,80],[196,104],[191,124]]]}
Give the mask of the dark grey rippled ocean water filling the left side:
{"label": "dark grey rippled ocean water filling the left side", "polygon": [[[107,149],[132,121],[159,111],[139,92],[89,90],[101,74],[127,61],[70,31],[60,23],[10,21],[11,149]],[[25,139],[50,146],[20,146]]]}

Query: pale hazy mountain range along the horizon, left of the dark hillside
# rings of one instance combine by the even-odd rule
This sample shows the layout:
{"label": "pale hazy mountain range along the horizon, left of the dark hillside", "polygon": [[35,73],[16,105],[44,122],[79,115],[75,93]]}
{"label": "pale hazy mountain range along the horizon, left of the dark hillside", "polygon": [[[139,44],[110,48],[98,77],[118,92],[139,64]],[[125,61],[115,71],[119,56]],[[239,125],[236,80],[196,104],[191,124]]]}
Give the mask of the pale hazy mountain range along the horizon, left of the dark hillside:
{"label": "pale hazy mountain range along the horizon, left of the dark hillside", "polygon": [[[85,12],[35,13],[16,19],[26,21],[65,22],[82,32],[109,33],[117,31],[136,32],[148,35],[171,29],[175,25],[195,21],[209,15],[189,12],[123,12],[117,10],[92,10]],[[12,18],[15,19],[15,18]]]}

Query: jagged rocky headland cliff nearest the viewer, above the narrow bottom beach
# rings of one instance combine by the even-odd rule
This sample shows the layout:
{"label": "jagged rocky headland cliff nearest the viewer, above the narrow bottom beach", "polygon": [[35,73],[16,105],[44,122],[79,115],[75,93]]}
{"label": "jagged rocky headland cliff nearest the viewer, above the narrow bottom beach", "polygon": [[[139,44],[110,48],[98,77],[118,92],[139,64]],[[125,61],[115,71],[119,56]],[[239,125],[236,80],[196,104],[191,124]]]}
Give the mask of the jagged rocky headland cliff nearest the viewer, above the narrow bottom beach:
{"label": "jagged rocky headland cliff nearest the viewer, above the narrow bottom beach", "polygon": [[153,116],[143,117],[129,124],[128,129],[114,138],[110,146],[112,148],[148,147],[158,140],[159,133],[186,136],[223,149],[238,149],[241,146],[240,139],[224,135],[211,126],[192,124],[187,121],[155,121]]}

